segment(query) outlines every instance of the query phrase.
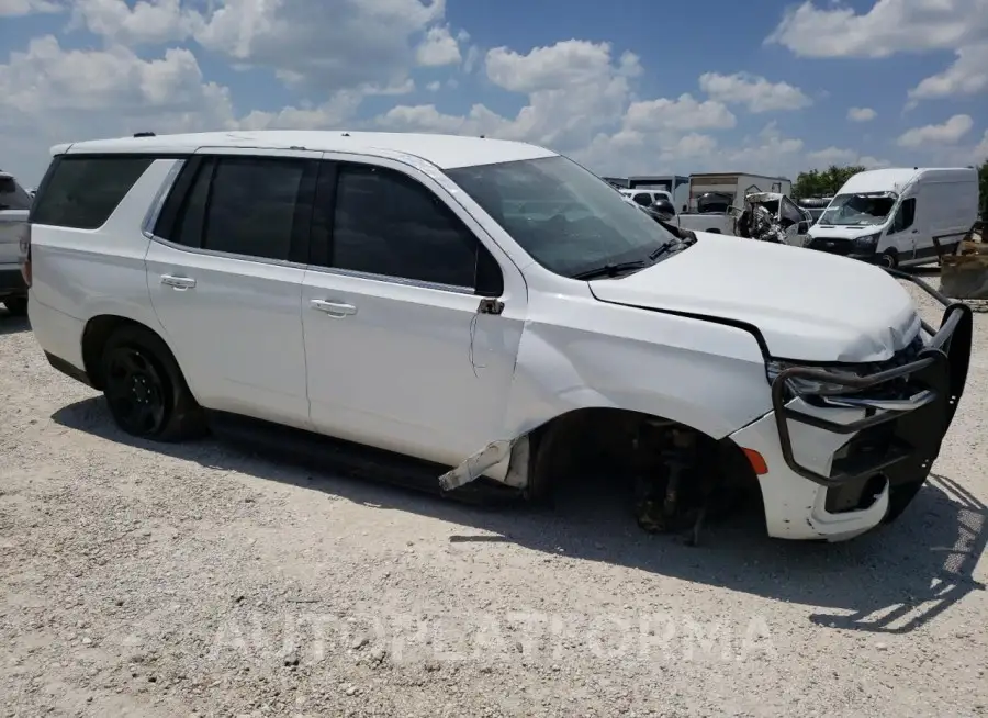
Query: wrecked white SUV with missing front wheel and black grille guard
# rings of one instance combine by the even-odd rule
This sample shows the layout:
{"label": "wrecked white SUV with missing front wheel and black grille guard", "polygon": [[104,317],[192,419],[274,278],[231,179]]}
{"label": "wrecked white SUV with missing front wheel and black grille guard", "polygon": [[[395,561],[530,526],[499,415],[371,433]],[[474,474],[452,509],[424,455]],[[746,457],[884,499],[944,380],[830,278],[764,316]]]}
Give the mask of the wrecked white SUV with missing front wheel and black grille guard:
{"label": "wrecked white SUV with missing front wheel and black grille guard", "polygon": [[606,456],[670,525],[748,482],[771,536],[839,540],[911,501],[964,389],[964,305],[934,329],[876,267],[673,235],[531,145],[248,132],[53,155],[31,325],[138,437],[333,437],[531,498]]}

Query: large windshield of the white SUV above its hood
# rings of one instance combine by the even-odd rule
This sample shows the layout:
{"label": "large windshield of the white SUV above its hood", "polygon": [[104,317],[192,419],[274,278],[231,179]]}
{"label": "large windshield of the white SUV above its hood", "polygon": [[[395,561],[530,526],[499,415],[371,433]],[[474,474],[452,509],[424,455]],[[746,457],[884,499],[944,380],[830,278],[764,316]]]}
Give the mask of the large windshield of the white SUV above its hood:
{"label": "large windshield of the white SUV above its hood", "polygon": [[565,157],[446,170],[531,257],[574,277],[609,263],[644,261],[677,242],[604,180]]}

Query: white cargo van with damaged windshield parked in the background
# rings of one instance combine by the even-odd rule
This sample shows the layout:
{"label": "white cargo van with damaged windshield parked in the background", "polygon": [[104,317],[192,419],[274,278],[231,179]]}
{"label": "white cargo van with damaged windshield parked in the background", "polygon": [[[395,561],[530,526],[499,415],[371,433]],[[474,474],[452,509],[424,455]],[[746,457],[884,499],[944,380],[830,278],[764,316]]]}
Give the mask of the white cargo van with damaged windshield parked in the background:
{"label": "white cargo van with damaged windshield parked in the background", "polygon": [[955,253],[977,217],[973,167],[872,169],[844,183],[806,246],[885,267],[924,265]]}

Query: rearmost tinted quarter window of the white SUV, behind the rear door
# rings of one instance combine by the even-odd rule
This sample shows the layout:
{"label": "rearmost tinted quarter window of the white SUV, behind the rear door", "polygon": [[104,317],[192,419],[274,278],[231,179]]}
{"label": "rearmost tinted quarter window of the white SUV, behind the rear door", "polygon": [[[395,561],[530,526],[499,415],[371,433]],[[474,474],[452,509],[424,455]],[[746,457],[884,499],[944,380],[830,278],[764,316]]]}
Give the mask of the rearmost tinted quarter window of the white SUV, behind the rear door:
{"label": "rearmost tinted quarter window of the white SUV, behind the rear door", "polygon": [[31,221],[75,229],[101,227],[153,161],[130,155],[57,158],[34,201]]}

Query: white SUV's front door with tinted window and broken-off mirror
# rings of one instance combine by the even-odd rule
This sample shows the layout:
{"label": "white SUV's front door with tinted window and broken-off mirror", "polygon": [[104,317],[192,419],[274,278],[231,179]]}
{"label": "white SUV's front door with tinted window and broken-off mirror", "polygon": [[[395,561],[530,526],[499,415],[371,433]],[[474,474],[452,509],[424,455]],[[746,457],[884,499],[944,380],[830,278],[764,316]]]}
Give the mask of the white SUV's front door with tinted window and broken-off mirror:
{"label": "white SUV's front door with tinted window and broken-off mirror", "polygon": [[524,284],[462,207],[402,167],[327,159],[319,171],[302,287],[312,422],[454,465],[503,438]]}

